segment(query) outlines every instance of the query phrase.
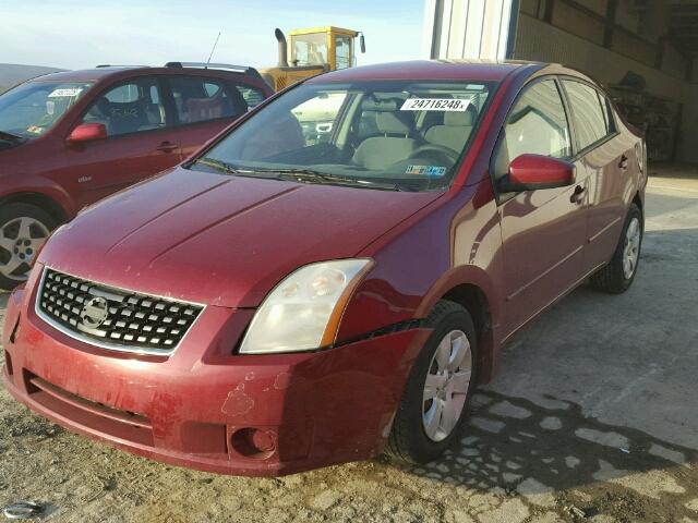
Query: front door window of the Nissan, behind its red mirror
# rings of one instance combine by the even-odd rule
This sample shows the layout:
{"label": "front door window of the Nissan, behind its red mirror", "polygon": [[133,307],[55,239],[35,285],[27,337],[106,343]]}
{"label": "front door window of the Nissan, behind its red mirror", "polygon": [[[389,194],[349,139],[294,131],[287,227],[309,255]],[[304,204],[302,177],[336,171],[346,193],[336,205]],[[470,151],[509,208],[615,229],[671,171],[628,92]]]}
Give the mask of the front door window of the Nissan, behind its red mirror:
{"label": "front door window of the Nissan, behind its red mirror", "polygon": [[527,87],[512,109],[500,138],[495,177],[506,175],[509,163],[525,154],[553,158],[571,156],[565,106],[553,80]]}

